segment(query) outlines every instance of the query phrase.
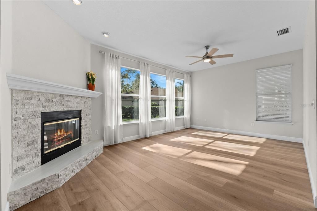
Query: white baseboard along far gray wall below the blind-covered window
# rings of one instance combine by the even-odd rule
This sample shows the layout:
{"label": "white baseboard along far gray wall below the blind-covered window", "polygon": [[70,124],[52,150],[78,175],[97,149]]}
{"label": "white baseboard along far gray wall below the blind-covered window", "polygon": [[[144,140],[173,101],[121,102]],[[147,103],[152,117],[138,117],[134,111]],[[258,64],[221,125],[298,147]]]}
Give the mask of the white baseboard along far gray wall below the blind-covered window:
{"label": "white baseboard along far gray wall below the blind-covered window", "polygon": [[191,128],[303,143],[302,138],[295,138],[295,137],[288,137],[288,136],[277,136],[277,135],[271,135],[271,134],[253,133],[253,132],[246,132],[246,131],[235,131],[235,130],[221,129],[221,128],[215,128],[215,127],[205,127],[205,126],[198,126],[198,125],[191,125]]}

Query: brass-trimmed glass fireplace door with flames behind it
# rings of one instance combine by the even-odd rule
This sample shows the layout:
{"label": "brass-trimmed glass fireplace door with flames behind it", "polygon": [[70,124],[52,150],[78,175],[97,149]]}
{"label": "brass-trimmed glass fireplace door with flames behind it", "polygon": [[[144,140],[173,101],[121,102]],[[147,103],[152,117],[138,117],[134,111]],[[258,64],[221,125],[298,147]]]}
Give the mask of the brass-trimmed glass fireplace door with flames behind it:
{"label": "brass-trimmed glass fireplace door with flames behind it", "polygon": [[79,140],[79,118],[44,123],[44,154]]}

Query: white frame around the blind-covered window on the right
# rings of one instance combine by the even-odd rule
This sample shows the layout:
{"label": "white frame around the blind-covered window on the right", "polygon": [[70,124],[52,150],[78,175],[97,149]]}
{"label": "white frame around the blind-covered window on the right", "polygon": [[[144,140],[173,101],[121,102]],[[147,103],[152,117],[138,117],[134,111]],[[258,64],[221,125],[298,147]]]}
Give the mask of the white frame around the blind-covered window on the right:
{"label": "white frame around the blind-covered window on the right", "polygon": [[[257,109],[257,72],[259,71],[265,71],[265,70],[274,70],[274,69],[281,69],[281,68],[285,68],[285,67],[289,67],[290,68],[290,93],[280,93],[280,94],[276,94],[276,95],[290,95],[290,115],[289,115],[289,120],[287,121],[280,121],[280,120],[273,120],[273,119],[268,119],[268,120],[263,120],[263,119],[258,119],[258,109]],[[263,68],[263,69],[257,69],[255,70],[255,78],[256,78],[256,87],[255,87],[255,97],[256,97],[256,118],[255,121],[256,122],[261,122],[261,123],[280,123],[280,124],[291,124],[293,125],[293,108],[292,108],[292,97],[293,97],[293,92],[292,92],[292,64],[290,65],[283,65],[283,66],[276,66],[276,67],[269,67],[269,68]],[[269,95],[269,94],[268,94]],[[272,94],[274,95],[274,94]]]}

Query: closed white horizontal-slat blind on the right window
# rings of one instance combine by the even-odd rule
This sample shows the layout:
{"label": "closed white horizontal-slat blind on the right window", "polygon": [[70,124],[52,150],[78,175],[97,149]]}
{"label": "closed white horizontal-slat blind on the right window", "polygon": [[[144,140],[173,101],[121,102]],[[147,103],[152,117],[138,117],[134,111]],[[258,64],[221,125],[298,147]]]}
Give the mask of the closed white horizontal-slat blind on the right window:
{"label": "closed white horizontal-slat blind on the right window", "polygon": [[292,121],[292,65],[256,70],[256,120]]}

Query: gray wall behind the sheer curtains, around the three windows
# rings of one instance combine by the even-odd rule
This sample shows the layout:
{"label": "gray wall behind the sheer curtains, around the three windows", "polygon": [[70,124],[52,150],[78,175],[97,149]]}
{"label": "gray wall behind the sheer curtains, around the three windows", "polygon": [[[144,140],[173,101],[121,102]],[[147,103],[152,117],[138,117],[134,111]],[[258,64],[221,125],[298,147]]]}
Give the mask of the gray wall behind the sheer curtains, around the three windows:
{"label": "gray wall behind the sheer curtains, around the three windows", "polygon": [[[96,89],[95,91],[97,92],[103,92],[104,89],[104,82],[103,82],[103,78],[104,78],[104,63],[105,63],[105,58],[104,58],[104,54],[100,54],[99,51],[104,51],[104,52],[110,52],[110,53],[115,53],[118,55],[121,55],[123,57],[129,58],[129,59],[133,59],[136,61],[144,61],[147,62],[151,65],[155,65],[158,67],[162,67],[162,68],[171,68],[171,67],[167,67],[152,61],[148,61],[148,60],[144,60],[144,59],[140,59],[128,54],[124,54],[124,53],[120,53],[111,49],[107,49],[98,45],[94,45],[91,44],[91,48],[90,48],[90,52],[91,52],[91,70],[93,72],[95,72],[97,74],[97,80],[96,80]],[[136,68],[139,69],[139,62],[136,61],[131,61],[131,60],[127,60],[124,58],[121,58],[121,65],[122,66],[126,66],[126,67],[132,67],[132,68]],[[151,72],[153,73],[158,73],[158,74],[166,74],[166,71],[162,68],[157,68],[157,67],[151,67]],[[177,70],[178,72],[183,72],[180,70]],[[185,72],[184,72],[185,73]],[[189,74],[189,73],[187,73]],[[183,74],[175,74],[175,77],[180,78],[180,79],[184,79],[184,75]],[[104,121],[104,102],[105,102],[105,94],[102,94],[100,97],[98,98],[94,98],[92,99],[92,114],[91,114],[91,118],[92,118],[92,140],[97,140],[97,139],[103,139],[103,121]],[[175,126],[176,127],[182,127],[184,126],[184,118],[177,118],[175,120]],[[160,121],[152,121],[152,131],[162,131],[165,130],[165,120],[160,120]],[[98,130],[98,135],[95,135],[95,130]],[[124,125],[123,126],[123,137],[132,137],[132,136],[137,136],[139,135],[139,124],[128,124],[128,125]]]}

